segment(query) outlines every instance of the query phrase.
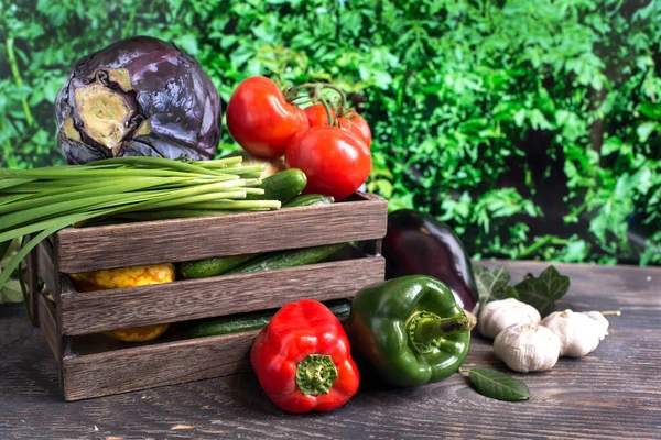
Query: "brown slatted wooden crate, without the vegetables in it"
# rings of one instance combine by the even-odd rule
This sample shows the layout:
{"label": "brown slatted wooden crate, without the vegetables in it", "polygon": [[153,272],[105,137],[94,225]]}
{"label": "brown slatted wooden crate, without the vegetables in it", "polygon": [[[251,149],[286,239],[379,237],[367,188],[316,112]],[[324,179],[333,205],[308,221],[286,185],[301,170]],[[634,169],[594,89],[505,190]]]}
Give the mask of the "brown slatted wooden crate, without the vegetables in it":
{"label": "brown slatted wooden crate, without the vegetables in it", "polygon": [[[388,202],[357,193],[347,201],[93,228],[67,228],[28,258],[31,309],[59,369],[66,400],[245,372],[257,332],[149,343],[99,332],[278,308],[301,298],[350,298],[383,279],[380,239]],[[67,274],[354,242],[333,261],[99,292],[76,292]],[[45,284],[53,300],[42,292]],[[178,324],[176,324],[178,322]],[[96,333],[96,334],[95,334]]]}

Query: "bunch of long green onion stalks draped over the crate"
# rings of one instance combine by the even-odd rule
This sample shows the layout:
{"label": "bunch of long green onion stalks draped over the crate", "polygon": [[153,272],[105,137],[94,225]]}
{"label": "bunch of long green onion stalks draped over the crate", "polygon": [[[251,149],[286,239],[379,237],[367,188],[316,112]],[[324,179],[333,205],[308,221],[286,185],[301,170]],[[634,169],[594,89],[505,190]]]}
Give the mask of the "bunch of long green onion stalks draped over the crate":
{"label": "bunch of long green onion stalks draped over the crate", "polygon": [[262,165],[241,166],[240,156],[204,162],[131,156],[0,169],[0,250],[4,242],[35,234],[0,273],[0,288],[34,246],[74,223],[278,209],[278,200],[242,200],[264,194],[262,170]]}

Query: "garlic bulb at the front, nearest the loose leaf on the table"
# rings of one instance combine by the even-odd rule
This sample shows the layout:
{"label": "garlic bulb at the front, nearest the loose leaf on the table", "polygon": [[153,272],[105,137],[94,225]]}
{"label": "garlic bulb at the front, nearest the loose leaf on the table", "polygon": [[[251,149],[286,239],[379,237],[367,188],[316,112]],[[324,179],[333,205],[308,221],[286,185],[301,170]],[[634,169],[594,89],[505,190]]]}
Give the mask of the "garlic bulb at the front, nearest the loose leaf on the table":
{"label": "garlic bulb at the front, nearest the loose leaf on the table", "polygon": [[494,353],[513,371],[546,371],[557,362],[560,339],[545,327],[511,326],[496,337]]}

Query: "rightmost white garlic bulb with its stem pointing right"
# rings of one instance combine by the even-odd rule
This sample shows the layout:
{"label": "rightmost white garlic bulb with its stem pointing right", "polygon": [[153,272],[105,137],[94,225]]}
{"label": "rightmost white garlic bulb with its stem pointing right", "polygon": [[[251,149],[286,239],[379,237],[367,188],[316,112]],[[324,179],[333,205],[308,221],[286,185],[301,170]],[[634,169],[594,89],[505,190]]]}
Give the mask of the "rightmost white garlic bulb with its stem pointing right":
{"label": "rightmost white garlic bulb with its stem pointing right", "polygon": [[544,318],[542,326],[560,338],[560,355],[570,358],[583,358],[595,351],[608,330],[608,321],[598,311],[589,315],[572,310],[556,311]]}

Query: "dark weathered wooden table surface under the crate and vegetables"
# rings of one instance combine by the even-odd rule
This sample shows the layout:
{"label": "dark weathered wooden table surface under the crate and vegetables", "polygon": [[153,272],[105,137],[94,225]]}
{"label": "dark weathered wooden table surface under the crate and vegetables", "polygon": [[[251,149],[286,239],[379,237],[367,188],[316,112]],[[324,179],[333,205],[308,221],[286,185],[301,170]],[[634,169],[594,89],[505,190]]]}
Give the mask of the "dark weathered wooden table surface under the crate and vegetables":
{"label": "dark weathered wooden table surface under the crate and vegetables", "polygon": [[[507,265],[512,279],[545,267]],[[485,398],[459,374],[398,389],[366,369],[358,394],[328,414],[282,413],[252,374],[65,403],[23,306],[0,306],[0,439],[661,439],[661,268],[556,267],[572,279],[563,307],[622,316],[609,317],[610,334],[590,355],[517,374],[532,394],[522,403]],[[507,372],[477,336],[465,366]]]}

